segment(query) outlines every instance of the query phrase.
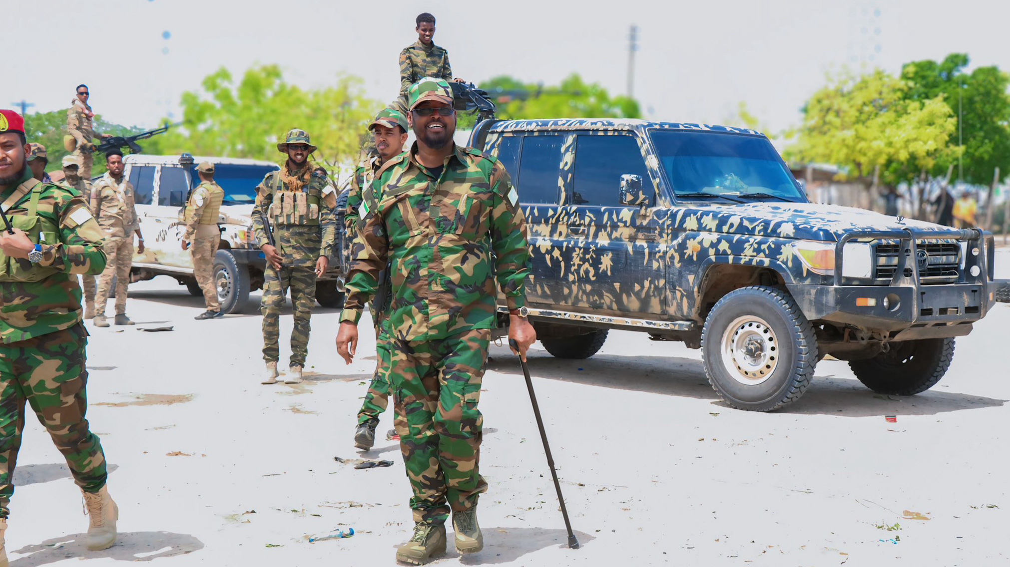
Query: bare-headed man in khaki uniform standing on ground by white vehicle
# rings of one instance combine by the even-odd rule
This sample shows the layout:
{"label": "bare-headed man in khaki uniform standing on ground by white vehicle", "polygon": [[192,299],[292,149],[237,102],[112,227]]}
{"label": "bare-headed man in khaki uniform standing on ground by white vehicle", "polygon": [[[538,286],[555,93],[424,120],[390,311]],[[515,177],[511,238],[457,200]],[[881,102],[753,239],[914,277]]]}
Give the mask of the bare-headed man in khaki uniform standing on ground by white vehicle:
{"label": "bare-headed man in khaki uniform standing on ground by white vehicle", "polygon": [[126,286],[133,263],[133,233],[138,241],[137,252],[143,253],[143,235],[133,206],[133,186],[123,179],[123,154],[113,149],[105,154],[108,172],[95,182],[91,192],[91,214],[98,219],[105,234],[102,248],[108,259],[98,282],[95,297],[95,327],[108,327],[105,304],[109,300],[112,277],[116,277],[116,325],[132,325],[126,317]]}

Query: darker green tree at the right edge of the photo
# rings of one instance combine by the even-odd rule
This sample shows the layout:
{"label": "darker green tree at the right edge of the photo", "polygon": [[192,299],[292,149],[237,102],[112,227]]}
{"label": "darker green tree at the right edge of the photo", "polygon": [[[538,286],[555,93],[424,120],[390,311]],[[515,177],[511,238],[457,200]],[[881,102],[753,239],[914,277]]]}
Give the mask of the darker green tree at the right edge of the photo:
{"label": "darker green tree at the right edge of the photo", "polygon": [[[968,64],[967,53],[950,53],[939,63],[925,60],[906,64],[901,77],[910,83],[905,95],[908,100],[922,102],[942,96],[955,121],[962,117],[957,127],[965,146],[963,180],[989,185],[996,167],[1003,172],[1002,177],[1010,175],[1010,76],[995,67],[980,67],[967,74]],[[953,139],[956,141],[956,133]],[[938,159],[929,174],[940,176],[956,157]]]}

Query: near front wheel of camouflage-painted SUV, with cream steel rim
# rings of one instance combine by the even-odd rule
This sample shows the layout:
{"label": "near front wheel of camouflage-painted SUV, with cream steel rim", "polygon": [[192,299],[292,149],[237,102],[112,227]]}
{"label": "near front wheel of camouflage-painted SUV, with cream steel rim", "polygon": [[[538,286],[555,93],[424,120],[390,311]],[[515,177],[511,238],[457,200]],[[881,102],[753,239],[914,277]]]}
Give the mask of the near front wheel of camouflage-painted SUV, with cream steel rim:
{"label": "near front wheel of camouflage-painted SUV, with cream steel rim", "polygon": [[813,326],[793,298],[775,288],[723,296],[705,319],[701,345],[712,389],[739,410],[771,412],[796,402],[817,365]]}

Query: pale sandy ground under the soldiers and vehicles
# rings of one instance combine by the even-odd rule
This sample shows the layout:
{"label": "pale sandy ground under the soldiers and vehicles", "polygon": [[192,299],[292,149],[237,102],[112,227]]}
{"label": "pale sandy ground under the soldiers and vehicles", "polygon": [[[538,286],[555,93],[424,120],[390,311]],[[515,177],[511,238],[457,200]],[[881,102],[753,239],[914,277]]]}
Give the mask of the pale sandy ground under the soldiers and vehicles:
{"label": "pale sandy ground under the soldiers and vehicles", "polygon": [[[1010,277],[1010,252],[998,257]],[[411,521],[399,447],[382,435],[390,415],[364,456],[394,466],[333,459],[363,456],[351,436],[374,345],[366,338],[362,359],[343,365],[337,314],[319,309],[308,381],[261,385],[258,315],[193,321],[200,301],[166,277],[129,296],[139,326],[174,331],[89,324],[89,417],[113,470],[120,543],[84,549],[80,492],[29,419],[11,565],[392,565]],[[998,305],[923,394],[877,395],[845,363],[823,361],[803,399],[772,414],[724,406],[700,352],[678,343],[614,332],[590,360],[536,350],[530,367],[580,550],[565,546],[519,366],[493,347],[481,401],[485,551],[460,557],[449,544],[438,564],[1007,564],[1008,326],[1010,307]],[[290,329],[289,315],[282,337]],[[346,528],[357,534],[308,542]]]}

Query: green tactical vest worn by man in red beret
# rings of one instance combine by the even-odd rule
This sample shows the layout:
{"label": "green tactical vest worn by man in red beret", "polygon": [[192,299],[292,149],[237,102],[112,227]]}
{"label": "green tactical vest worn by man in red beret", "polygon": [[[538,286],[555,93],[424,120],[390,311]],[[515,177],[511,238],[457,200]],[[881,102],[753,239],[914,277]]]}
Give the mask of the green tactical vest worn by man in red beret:
{"label": "green tactical vest worn by man in red beret", "polygon": [[[23,214],[12,211],[14,207],[24,199],[24,195],[18,195],[21,188],[30,192],[28,206]],[[38,214],[38,199],[42,195],[45,186],[35,179],[30,179],[14,190],[11,199],[4,203],[4,214],[10,220],[11,226],[19,228],[28,235],[28,239],[36,244],[58,244],[60,242],[60,227],[53,221]],[[9,204],[8,204],[9,203]],[[2,230],[6,230],[4,226]],[[40,281],[46,277],[59,273],[55,267],[42,266],[31,263],[27,259],[12,258],[0,250],[0,281]]]}

